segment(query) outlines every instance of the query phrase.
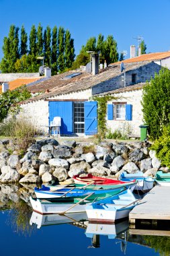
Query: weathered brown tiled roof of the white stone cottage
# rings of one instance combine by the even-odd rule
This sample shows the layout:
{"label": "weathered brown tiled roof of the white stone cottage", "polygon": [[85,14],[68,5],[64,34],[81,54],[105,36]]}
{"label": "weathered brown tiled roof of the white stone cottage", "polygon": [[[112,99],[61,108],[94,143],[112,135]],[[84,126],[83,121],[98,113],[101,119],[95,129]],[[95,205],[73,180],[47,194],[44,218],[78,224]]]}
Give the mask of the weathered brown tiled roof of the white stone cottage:
{"label": "weathered brown tiled roof of the white stone cottage", "polygon": [[[126,65],[126,72],[133,69],[138,69],[139,67],[144,66],[148,63],[150,62],[146,61],[142,63],[133,63]],[[36,85],[30,86],[28,88],[30,92],[40,92],[40,90],[47,89],[49,90],[49,92],[40,94],[21,103],[25,104],[36,100],[52,98],[53,96],[58,96],[61,94],[69,94],[72,92],[87,90],[89,88],[93,88],[93,86],[96,86],[101,82],[107,82],[108,80],[117,77],[118,75],[121,75],[120,65],[114,65],[112,67],[101,70],[100,73],[98,73],[97,75],[91,75],[82,71],[81,75],[78,75],[77,77],[73,77],[71,79],[62,79],[62,77],[65,77],[65,75],[68,75],[71,72],[74,73],[75,71],[69,71],[60,75],[54,75],[53,77],[44,82],[40,82]]]}

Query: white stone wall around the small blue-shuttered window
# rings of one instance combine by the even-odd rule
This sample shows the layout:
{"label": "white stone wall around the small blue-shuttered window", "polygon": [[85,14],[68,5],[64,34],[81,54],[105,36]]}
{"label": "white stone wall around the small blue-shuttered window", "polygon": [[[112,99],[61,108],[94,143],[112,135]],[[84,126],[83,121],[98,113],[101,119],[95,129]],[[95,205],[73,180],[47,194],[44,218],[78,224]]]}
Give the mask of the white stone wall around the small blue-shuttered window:
{"label": "white stone wall around the small blue-shuttered window", "polygon": [[[140,136],[140,128],[142,122],[142,90],[134,90],[130,92],[122,92],[120,94],[112,94],[117,97],[114,102],[127,102],[127,104],[132,104],[132,121],[120,121],[120,120],[108,120],[107,126],[114,132],[115,130],[120,130],[121,133],[132,133]],[[108,102],[112,104],[112,102]]]}

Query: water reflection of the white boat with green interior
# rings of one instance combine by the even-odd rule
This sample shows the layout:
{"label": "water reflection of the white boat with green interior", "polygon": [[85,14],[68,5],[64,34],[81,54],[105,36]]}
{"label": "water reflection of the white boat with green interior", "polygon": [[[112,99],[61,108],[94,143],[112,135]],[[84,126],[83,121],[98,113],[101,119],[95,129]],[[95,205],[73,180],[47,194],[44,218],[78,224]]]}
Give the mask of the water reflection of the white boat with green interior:
{"label": "water reflection of the white boat with green interior", "polygon": [[80,214],[48,214],[42,215],[37,212],[32,212],[32,216],[30,218],[30,225],[36,224],[37,228],[41,228],[42,226],[49,225],[57,225],[57,224],[66,224],[71,222],[80,222],[87,220],[87,214],[85,212]]}

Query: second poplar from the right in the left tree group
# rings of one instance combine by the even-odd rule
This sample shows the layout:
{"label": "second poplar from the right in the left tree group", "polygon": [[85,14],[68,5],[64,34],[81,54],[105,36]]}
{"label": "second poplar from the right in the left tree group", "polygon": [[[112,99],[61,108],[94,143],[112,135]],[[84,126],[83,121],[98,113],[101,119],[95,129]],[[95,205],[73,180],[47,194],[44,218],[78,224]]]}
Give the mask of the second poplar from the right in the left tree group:
{"label": "second poplar from the right in the left tree group", "polygon": [[60,27],[58,30],[58,69],[63,71],[65,69],[65,30],[64,28]]}

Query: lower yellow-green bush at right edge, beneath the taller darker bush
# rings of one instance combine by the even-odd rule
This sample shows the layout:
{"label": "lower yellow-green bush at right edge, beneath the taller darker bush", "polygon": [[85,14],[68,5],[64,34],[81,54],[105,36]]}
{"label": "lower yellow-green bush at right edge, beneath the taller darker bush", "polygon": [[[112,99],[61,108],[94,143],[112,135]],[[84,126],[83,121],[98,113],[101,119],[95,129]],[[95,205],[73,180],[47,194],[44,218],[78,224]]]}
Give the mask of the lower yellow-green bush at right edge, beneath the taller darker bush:
{"label": "lower yellow-green bush at right edge, beneath the taller darker bush", "polygon": [[161,164],[170,168],[170,125],[163,127],[163,133],[151,146],[156,151],[157,158]]}

